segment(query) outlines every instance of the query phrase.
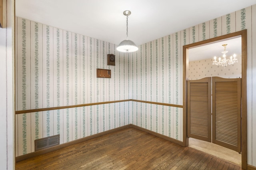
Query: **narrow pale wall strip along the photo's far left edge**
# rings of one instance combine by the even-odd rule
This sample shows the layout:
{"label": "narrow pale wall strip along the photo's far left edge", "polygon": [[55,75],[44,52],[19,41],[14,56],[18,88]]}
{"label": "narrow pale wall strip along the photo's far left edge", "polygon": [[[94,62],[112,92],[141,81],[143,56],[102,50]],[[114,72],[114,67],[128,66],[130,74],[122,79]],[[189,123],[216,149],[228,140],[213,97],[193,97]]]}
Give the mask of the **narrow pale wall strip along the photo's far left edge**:
{"label": "narrow pale wall strip along the photo's far left edge", "polygon": [[0,28],[0,165],[1,169],[14,169],[14,107],[12,57],[12,1],[4,0],[6,27]]}

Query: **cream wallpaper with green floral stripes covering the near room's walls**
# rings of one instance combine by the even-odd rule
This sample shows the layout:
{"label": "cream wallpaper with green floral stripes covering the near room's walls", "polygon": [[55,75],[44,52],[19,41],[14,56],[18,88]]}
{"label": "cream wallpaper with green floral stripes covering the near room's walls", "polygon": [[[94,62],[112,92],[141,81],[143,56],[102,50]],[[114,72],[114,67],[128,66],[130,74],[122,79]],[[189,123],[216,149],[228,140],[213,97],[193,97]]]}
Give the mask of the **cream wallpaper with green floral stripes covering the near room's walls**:
{"label": "cream wallpaper with green floral stripes covering the near room's walls", "polygon": [[[255,166],[255,17],[254,5],[139,45],[134,53],[17,18],[16,110],[123,99],[182,105],[182,46],[247,29],[248,163]],[[116,66],[106,64],[108,53],[116,55]],[[96,68],[111,69],[112,78],[96,78]],[[129,101],[16,115],[16,156],[34,152],[36,138],[60,134],[64,143],[130,123],[182,141],[182,108]]]}

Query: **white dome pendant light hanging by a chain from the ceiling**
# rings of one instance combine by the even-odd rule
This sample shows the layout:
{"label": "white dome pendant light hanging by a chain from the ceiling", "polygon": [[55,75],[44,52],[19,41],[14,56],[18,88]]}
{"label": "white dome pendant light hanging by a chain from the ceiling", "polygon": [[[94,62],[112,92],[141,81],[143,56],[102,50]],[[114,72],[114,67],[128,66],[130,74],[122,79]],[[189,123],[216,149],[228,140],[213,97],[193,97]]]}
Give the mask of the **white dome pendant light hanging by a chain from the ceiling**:
{"label": "white dome pendant light hanging by a chain from the ceiling", "polygon": [[126,40],[120,42],[116,49],[120,52],[130,53],[137,51],[138,47],[133,41],[128,40],[128,16],[131,14],[131,12],[126,10],[123,12],[123,14],[126,16]]}

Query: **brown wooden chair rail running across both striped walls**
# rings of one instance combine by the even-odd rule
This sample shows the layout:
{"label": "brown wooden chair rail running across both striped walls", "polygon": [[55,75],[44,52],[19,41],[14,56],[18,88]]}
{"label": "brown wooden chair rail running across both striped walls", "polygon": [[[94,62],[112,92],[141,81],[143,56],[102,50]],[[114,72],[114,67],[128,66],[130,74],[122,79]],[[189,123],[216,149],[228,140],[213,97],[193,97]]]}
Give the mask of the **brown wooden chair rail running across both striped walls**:
{"label": "brown wooden chair rail running across both striped walls", "polygon": [[15,114],[17,115],[17,114],[24,114],[24,113],[52,111],[52,110],[58,110],[58,109],[69,109],[69,108],[74,108],[74,107],[103,105],[103,104],[119,103],[119,102],[126,102],[126,101],[135,101],[135,102],[140,102],[140,103],[149,103],[149,104],[154,104],[154,105],[164,105],[164,106],[170,106],[170,107],[180,107],[180,108],[183,108],[183,105],[174,105],[174,104],[168,104],[168,103],[158,103],[158,102],[152,102],[152,101],[142,101],[142,100],[127,99],[127,100],[118,100],[118,101],[105,101],[105,102],[98,102],[98,103],[86,103],[86,104],[81,104],[81,105],[70,105],[70,106],[60,106],[60,107],[48,107],[48,108],[42,108],[42,109],[22,110],[22,111],[15,111]]}

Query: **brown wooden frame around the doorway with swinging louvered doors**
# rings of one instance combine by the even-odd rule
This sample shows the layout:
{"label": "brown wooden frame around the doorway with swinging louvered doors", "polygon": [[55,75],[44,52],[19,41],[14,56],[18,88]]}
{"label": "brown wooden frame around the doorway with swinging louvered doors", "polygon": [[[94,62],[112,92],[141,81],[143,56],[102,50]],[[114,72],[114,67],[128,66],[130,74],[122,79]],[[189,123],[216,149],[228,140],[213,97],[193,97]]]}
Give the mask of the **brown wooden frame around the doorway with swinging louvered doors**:
{"label": "brown wooden frame around the doorway with swinging louvered doors", "polygon": [[188,146],[187,137],[187,81],[188,73],[188,49],[203,46],[210,43],[221,42],[224,39],[242,39],[242,168],[247,169],[247,30],[242,30],[223,36],[211,38],[183,46],[183,146]]}

